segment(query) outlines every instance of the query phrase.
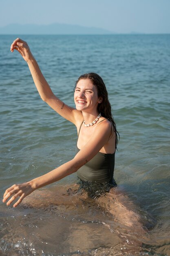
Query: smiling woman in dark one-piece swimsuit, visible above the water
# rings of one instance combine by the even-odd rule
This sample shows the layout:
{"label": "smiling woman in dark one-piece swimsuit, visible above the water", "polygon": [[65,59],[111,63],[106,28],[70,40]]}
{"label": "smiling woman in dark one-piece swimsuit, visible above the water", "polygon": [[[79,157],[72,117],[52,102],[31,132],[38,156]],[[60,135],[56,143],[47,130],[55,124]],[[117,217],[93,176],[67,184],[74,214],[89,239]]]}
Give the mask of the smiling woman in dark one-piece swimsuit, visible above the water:
{"label": "smiling woman in dark one-piece swimsuit, visible above the water", "polygon": [[27,43],[17,38],[11,45],[11,52],[14,49],[27,62],[42,100],[62,117],[75,124],[78,140],[77,153],[71,161],[29,182],[11,186],[5,191],[3,202],[9,205],[18,199],[13,205],[16,207],[36,189],[74,172],[77,172],[82,182],[108,182],[111,186],[116,186],[113,171],[119,134],[111,114],[111,106],[102,78],[95,73],[80,76],[75,83],[76,108],[71,108],[53,94]]}

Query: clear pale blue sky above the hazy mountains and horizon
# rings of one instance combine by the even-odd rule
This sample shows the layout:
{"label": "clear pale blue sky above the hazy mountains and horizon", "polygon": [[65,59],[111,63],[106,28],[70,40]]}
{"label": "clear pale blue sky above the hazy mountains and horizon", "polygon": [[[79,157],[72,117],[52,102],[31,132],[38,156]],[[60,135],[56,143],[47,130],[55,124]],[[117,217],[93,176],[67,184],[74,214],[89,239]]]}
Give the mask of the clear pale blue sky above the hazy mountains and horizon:
{"label": "clear pale blue sky above the hazy mountains and horizon", "polygon": [[117,33],[170,33],[170,0],[0,0],[0,27],[55,22]]}

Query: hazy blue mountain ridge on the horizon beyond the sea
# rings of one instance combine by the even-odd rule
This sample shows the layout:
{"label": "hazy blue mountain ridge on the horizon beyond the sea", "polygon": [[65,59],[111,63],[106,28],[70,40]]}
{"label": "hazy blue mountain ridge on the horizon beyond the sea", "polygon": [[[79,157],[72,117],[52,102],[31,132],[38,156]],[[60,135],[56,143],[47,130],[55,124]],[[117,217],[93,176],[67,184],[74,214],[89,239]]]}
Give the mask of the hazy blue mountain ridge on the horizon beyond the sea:
{"label": "hazy blue mountain ridge on the horizon beyond the sea", "polygon": [[112,31],[97,28],[83,27],[79,25],[68,25],[61,23],[53,23],[50,25],[36,24],[9,24],[0,27],[0,34],[115,34]]}

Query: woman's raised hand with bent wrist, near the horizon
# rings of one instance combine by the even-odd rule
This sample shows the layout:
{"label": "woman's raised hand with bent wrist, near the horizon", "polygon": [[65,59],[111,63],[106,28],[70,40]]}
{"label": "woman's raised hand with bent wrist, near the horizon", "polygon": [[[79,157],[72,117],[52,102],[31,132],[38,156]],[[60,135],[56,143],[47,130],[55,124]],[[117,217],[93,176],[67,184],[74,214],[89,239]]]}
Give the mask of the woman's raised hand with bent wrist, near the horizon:
{"label": "woman's raised hand with bent wrist, near the horizon", "polygon": [[13,52],[14,49],[21,54],[21,56],[24,58],[26,62],[33,58],[33,55],[29,49],[28,44],[20,38],[15,39],[11,44],[11,52]]}

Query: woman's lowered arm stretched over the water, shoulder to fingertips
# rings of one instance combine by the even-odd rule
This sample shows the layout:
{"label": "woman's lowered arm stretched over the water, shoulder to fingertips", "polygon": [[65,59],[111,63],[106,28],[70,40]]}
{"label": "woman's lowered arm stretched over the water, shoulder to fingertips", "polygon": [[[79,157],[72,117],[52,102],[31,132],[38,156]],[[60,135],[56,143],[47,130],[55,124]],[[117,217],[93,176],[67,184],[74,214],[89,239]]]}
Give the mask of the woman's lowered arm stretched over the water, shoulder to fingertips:
{"label": "woman's lowered arm stretched over the water, shoulder to fingertips", "polygon": [[39,189],[43,186],[61,180],[67,175],[76,172],[80,167],[90,161],[108,142],[110,136],[111,124],[109,121],[103,121],[97,126],[97,130],[94,132],[93,136],[91,136],[87,144],[71,161],[66,162],[53,171],[35,178],[29,182],[11,186],[5,191],[3,202],[6,202],[12,196],[11,199],[9,199],[7,202],[7,205],[9,205],[11,202],[13,202],[13,200],[20,196],[18,201],[13,205],[13,207],[16,207],[27,195],[32,193],[35,189]]}

